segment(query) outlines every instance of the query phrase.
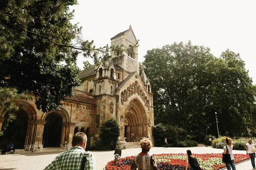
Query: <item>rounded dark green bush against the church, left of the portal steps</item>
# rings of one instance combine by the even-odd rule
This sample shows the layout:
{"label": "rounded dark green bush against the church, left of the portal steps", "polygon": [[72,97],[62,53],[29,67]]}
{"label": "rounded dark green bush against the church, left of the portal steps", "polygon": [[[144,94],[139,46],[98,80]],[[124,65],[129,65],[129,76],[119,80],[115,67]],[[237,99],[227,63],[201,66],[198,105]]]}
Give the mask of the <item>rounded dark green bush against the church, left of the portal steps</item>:
{"label": "rounded dark green bush against the church, left of the portal steps", "polygon": [[105,148],[114,150],[118,142],[120,127],[116,119],[111,118],[104,122],[100,127],[101,144]]}

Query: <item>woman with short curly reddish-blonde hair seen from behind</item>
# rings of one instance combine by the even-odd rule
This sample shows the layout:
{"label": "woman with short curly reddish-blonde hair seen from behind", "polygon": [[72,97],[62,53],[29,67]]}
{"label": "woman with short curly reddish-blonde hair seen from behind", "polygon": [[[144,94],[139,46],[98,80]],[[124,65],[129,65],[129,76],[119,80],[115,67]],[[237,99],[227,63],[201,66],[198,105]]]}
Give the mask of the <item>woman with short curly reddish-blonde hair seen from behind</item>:
{"label": "woman with short curly reddish-blonde hair seen from behind", "polygon": [[140,141],[140,146],[142,151],[134,156],[131,170],[157,170],[157,164],[154,161],[153,156],[148,154],[152,147],[151,141],[144,138]]}

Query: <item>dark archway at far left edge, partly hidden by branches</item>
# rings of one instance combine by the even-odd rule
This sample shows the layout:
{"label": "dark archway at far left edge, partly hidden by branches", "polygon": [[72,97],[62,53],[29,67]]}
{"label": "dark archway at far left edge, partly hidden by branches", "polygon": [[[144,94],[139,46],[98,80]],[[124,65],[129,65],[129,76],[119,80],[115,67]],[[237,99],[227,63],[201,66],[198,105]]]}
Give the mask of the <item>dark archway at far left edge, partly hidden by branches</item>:
{"label": "dark archway at far left edge, partly hidden by branches", "polygon": [[[0,137],[0,149],[5,148],[9,142],[12,142],[16,149],[24,149],[29,116],[23,109],[18,110],[15,115],[16,119],[9,122],[6,130],[2,127],[4,132],[3,136]],[[4,118],[7,116],[6,113]]]}

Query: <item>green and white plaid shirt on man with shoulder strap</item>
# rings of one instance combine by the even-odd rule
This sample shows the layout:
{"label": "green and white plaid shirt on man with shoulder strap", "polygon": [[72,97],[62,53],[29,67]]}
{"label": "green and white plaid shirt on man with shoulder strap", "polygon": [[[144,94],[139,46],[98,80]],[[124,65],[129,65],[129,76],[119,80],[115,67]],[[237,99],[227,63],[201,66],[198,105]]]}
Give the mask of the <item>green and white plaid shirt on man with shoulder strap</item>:
{"label": "green and white plaid shirt on man with shoulder strap", "polygon": [[[80,146],[60,153],[44,170],[80,170],[84,149]],[[88,152],[84,170],[96,170],[95,157]]]}

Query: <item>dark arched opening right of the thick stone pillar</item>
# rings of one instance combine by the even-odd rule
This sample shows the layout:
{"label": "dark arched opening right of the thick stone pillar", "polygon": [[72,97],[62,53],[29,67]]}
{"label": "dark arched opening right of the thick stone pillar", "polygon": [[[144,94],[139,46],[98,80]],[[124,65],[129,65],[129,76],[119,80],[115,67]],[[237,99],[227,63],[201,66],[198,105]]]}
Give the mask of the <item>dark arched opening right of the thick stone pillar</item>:
{"label": "dark arched opening right of the thick stone pillar", "polygon": [[49,113],[45,118],[43,144],[44,147],[60,147],[62,119],[58,113]]}

